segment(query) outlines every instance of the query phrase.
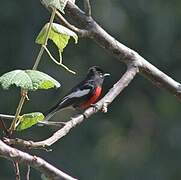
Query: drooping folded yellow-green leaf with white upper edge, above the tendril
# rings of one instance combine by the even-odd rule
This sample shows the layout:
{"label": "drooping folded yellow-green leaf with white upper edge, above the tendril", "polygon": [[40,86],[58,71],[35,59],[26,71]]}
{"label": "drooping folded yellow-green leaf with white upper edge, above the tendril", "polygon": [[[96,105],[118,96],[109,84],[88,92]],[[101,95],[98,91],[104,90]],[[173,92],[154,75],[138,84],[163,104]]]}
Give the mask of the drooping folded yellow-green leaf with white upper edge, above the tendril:
{"label": "drooping folded yellow-green leaf with white upper edge, above the tendril", "polygon": [[[37,44],[43,45],[45,43],[48,27],[49,23],[45,24],[45,26],[40,31],[38,37],[36,38]],[[59,49],[60,60],[61,60],[61,53],[63,52],[63,49],[67,46],[70,37],[74,38],[75,43],[78,42],[78,36],[76,33],[74,33],[70,29],[60,24],[57,23],[52,24],[48,38],[51,39]]]}

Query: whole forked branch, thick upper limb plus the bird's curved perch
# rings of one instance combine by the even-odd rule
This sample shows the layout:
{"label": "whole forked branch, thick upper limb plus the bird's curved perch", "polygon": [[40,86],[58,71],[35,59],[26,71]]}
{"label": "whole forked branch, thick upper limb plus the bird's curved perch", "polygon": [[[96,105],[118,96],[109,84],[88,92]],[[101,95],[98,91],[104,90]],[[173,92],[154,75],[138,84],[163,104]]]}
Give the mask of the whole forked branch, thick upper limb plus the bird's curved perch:
{"label": "whole forked branch, thick upper limb plus the bird's curved perch", "polygon": [[81,11],[76,5],[72,4],[69,1],[67,3],[66,12],[68,12],[75,21],[81,23],[85,27],[85,29],[90,32],[90,38],[92,38],[100,46],[105,48],[108,52],[113,54],[121,62],[124,62],[128,65],[131,64],[131,66],[129,66],[124,76],[118,81],[118,83],[114,85],[114,87],[106,94],[106,96],[98,103],[96,103],[96,110],[93,107],[87,109],[84,115],[79,115],[72,118],[62,129],[60,129],[52,137],[44,141],[32,142],[19,139],[6,139],[7,143],[20,144],[30,148],[51,146],[58,139],[65,136],[73,127],[81,123],[85,119],[85,117],[91,116],[102,108],[106,109],[107,105],[111,103],[114,98],[127,86],[127,84],[132,80],[137,72],[140,72],[146,78],[151,80],[154,84],[156,84],[156,86],[167,89],[169,92],[181,99],[180,83],[176,82],[175,80],[161,72],[159,69],[157,69],[155,66],[147,62],[134,50],[115,40],[104,29],[102,29],[92,19],[92,17],[85,15],[83,11]]}

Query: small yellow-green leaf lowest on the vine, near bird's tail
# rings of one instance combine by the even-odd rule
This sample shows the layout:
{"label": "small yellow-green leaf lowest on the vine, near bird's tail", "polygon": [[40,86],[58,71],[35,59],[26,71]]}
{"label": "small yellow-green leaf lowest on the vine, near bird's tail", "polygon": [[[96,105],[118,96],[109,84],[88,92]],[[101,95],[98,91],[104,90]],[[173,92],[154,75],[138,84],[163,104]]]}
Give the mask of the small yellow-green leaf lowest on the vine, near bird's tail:
{"label": "small yellow-green leaf lowest on the vine, near bird's tail", "polygon": [[16,130],[22,131],[24,129],[30,128],[31,126],[37,124],[38,121],[42,121],[44,118],[44,115],[40,112],[24,114],[19,117],[19,124]]}

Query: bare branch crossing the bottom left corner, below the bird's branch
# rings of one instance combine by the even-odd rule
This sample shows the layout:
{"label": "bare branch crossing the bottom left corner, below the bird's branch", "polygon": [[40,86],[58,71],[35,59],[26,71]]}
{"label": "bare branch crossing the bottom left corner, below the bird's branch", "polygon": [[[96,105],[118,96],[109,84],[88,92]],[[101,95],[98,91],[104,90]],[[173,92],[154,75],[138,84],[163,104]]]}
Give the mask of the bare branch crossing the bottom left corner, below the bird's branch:
{"label": "bare branch crossing the bottom left corner, below the bird's branch", "polygon": [[18,163],[23,163],[25,165],[30,165],[31,167],[37,169],[47,178],[52,180],[76,180],[75,178],[65,174],[59,169],[55,168],[45,160],[40,157],[32,156],[28,153],[22,152],[15,148],[12,148],[0,140],[0,156],[15,161]]}

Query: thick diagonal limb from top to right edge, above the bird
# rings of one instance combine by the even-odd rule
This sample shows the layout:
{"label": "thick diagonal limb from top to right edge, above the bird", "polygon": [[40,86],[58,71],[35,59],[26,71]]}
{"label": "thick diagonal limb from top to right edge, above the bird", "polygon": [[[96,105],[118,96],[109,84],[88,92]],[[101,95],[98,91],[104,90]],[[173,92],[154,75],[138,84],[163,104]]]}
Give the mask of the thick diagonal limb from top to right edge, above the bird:
{"label": "thick diagonal limb from top to right edge, above the bird", "polygon": [[76,22],[79,22],[87,31],[89,38],[93,39],[99,46],[103,47],[114,57],[126,64],[133,63],[139,68],[140,74],[151,80],[156,86],[162,87],[181,99],[181,84],[167,76],[158,68],[150,64],[134,50],[118,42],[101,28],[96,21],[86,16],[75,4],[68,1],[66,13]]}

